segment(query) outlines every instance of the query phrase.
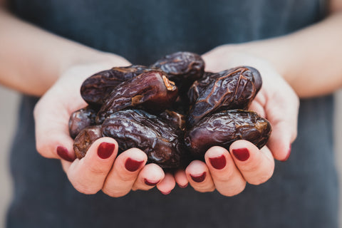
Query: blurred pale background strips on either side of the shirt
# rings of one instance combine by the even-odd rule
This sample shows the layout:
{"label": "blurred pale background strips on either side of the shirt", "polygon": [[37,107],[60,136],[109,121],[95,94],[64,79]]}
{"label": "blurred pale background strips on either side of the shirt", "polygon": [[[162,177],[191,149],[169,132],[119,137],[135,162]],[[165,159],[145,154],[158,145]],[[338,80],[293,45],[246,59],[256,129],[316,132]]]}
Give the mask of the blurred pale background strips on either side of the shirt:
{"label": "blurred pale background strips on either side of the shirt", "polygon": [[[9,148],[16,129],[18,102],[18,93],[0,86],[0,228],[4,228],[6,207],[11,199]],[[336,112],[334,114],[336,119],[336,164],[338,164],[339,178],[342,183],[342,90],[336,93]],[[342,208],[342,197],[340,197],[340,205]],[[340,227],[342,228],[342,209],[340,209],[340,214]]]}

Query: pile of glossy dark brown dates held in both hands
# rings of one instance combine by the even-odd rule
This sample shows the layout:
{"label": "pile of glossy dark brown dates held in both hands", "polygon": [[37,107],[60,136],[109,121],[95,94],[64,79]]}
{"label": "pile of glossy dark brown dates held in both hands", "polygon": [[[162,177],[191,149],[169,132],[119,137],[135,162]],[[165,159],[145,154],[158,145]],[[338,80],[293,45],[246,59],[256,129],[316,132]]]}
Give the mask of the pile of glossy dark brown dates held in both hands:
{"label": "pile of glossy dark brown dates held in both hands", "polygon": [[101,137],[114,138],[120,152],[143,150],[147,162],[176,169],[204,159],[214,145],[235,140],[263,147],[269,122],[247,110],[261,88],[259,71],[239,66],[204,72],[201,56],[177,52],[151,66],[115,67],[90,76],[81,86],[88,106],[69,120],[76,157]]}

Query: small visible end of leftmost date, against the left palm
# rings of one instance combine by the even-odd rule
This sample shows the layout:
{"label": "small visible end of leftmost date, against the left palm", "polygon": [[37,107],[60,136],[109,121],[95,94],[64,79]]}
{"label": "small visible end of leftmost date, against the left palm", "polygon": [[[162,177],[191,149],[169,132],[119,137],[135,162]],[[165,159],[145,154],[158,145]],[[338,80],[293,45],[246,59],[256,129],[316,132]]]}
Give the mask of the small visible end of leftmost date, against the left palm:
{"label": "small visible end of leftmost date, against the left palm", "polygon": [[78,133],[90,125],[95,125],[95,117],[97,112],[95,109],[87,106],[86,108],[81,108],[76,110],[70,115],[69,119],[69,133],[71,138],[75,138]]}

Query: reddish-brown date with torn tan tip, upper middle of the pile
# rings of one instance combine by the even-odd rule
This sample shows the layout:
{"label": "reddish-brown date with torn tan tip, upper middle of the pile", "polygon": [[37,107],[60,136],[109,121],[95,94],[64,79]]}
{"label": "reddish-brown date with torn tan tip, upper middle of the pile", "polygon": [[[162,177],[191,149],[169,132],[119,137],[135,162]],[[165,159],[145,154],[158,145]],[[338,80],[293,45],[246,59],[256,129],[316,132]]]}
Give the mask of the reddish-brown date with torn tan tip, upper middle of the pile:
{"label": "reddish-brown date with torn tan tip, upper middle of the pile", "polygon": [[177,98],[177,87],[163,71],[149,71],[116,86],[96,116],[100,124],[108,115],[125,108],[142,108],[160,113]]}

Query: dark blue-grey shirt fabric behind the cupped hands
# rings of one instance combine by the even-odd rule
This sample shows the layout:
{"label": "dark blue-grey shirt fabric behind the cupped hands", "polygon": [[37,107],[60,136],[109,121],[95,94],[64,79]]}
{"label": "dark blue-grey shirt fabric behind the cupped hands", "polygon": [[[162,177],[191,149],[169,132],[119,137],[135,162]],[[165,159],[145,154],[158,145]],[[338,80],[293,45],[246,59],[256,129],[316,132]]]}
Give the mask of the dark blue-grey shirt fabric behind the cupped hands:
{"label": "dark blue-grey shirt fabric behind the cupped hands", "polygon": [[[167,53],[205,53],[225,43],[283,36],[323,19],[313,0],[15,0],[21,19],[135,64]],[[34,51],[34,47],[33,51]],[[266,183],[234,197],[176,187],[112,198],[77,192],[61,162],[36,152],[33,107],[24,96],[11,150],[14,199],[6,226],[338,227],[331,96],[301,100],[298,138]]]}

